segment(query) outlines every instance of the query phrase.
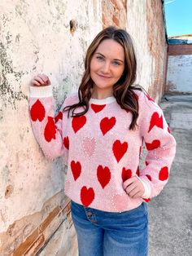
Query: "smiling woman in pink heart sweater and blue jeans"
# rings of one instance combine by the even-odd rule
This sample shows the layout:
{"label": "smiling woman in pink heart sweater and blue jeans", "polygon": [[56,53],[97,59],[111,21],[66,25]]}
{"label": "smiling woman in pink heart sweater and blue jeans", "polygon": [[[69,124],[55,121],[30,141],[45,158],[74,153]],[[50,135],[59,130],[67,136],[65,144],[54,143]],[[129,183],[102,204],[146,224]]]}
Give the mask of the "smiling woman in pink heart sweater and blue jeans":
{"label": "smiling woman in pink heart sweater and blue jeans", "polygon": [[68,165],[65,193],[81,256],[147,255],[146,202],[168,182],[176,141],[158,104],[133,85],[136,67],[129,34],[109,27],[90,44],[78,93],[56,117],[49,77],[39,74],[30,86],[37,142]]}

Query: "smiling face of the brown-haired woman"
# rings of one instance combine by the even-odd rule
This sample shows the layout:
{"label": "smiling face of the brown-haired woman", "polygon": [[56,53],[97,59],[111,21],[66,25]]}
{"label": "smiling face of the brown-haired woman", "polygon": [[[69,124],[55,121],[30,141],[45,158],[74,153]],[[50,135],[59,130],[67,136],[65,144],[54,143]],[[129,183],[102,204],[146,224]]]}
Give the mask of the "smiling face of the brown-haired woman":
{"label": "smiling face of the brown-haired woman", "polygon": [[90,61],[90,77],[94,90],[112,95],[113,85],[124,72],[124,48],[113,39],[103,40]]}

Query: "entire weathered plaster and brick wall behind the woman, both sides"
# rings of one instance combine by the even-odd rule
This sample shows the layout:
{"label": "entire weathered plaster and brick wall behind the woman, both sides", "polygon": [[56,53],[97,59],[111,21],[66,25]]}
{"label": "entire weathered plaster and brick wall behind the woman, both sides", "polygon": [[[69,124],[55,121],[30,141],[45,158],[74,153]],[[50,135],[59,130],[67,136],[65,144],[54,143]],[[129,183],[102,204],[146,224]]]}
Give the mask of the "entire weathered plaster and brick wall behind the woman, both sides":
{"label": "entire weathered plaster and brick wall behind the woman, both sides", "polygon": [[89,42],[115,24],[133,36],[137,82],[158,101],[166,57],[162,3],[2,0],[0,10],[0,254],[73,256],[76,236],[63,194],[66,166],[61,159],[46,161],[33,137],[28,83],[46,73],[58,109],[78,88]]}

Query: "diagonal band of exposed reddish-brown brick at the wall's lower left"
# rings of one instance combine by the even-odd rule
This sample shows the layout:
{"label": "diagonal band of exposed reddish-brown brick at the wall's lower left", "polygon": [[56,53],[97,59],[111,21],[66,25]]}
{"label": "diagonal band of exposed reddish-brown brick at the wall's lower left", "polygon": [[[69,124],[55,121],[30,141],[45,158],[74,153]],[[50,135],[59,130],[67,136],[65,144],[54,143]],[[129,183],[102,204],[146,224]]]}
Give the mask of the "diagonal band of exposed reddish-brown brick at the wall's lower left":
{"label": "diagonal band of exposed reddish-brown brick at the wall's lower left", "polygon": [[[2,244],[0,255],[24,255],[27,251],[31,253],[36,247],[41,248],[63,222],[64,216],[66,216],[65,222],[70,228],[72,225],[70,201],[61,191],[46,201],[40,212],[15,221],[9,226],[7,232],[0,234]],[[43,234],[44,242],[38,242],[38,246],[36,246],[35,243],[41,234]]]}

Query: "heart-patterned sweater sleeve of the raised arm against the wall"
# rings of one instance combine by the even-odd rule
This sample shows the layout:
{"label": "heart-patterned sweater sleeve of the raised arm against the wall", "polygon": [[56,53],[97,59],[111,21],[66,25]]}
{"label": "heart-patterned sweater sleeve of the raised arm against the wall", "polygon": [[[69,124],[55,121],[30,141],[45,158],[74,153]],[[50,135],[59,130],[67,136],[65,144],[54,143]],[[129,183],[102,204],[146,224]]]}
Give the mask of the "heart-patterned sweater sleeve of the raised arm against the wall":
{"label": "heart-patterned sweater sleeve of the raised arm against the wall", "polygon": [[[54,160],[68,149],[63,135],[63,108],[55,116],[52,86],[30,86],[29,112],[33,134],[47,159]],[[65,148],[64,148],[65,145]]]}

